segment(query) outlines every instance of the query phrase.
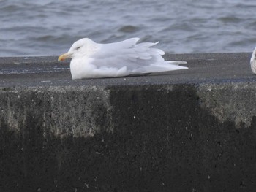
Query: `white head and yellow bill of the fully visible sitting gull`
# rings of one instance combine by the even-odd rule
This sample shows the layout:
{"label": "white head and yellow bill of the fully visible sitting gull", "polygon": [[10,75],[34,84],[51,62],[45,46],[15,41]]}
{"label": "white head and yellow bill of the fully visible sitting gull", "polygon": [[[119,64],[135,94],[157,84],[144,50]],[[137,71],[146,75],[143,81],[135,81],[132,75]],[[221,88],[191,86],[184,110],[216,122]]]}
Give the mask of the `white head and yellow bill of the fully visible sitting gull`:
{"label": "white head and yellow bill of the fully visible sitting gull", "polygon": [[91,39],[83,38],[74,42],[67,53],[59,56],[58,61],[64,61],[67,58],[77,58],[90,55],[97,47],[97,44]]}

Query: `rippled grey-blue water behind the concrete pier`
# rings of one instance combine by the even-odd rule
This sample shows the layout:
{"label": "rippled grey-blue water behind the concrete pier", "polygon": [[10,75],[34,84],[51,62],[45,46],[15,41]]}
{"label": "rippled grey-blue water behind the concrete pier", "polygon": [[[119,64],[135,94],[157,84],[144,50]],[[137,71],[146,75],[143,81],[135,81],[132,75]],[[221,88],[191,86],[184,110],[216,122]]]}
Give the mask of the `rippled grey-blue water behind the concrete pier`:
{"label": "rippled grey-blue water behind the concrete pier", "polygon": [[140,37],[167,53],[252,52],[255,10],[255,0],[0,0],[0,56],[60,55],[83,37]]}

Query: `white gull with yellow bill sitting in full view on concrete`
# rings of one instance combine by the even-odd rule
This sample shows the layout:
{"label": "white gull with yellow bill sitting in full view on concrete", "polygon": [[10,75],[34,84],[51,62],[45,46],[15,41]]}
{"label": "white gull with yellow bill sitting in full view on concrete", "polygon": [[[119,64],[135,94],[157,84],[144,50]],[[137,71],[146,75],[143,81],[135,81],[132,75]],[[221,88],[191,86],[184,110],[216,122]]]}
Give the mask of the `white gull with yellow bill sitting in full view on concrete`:
{"label": "white gull with yellow bill sitting in full view on concrete", "polygon": [[139,38],[122,42],[98,44],[83,38],[74,42],[67,53],[58,61],[72,58],[70,71],[72,79],[125,77],[131,74],[148,74],[188,69],[186,61],[165,61],[164,51],[151,48],[159,42],[138,43]]}

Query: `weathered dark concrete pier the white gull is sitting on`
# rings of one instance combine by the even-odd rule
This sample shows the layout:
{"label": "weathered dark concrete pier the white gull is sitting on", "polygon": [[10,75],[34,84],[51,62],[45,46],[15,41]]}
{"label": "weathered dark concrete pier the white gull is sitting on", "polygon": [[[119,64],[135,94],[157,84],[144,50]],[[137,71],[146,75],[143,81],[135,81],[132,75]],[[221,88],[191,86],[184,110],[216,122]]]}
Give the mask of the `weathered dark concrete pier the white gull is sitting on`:
{"label": "weathered dark concrete pier the white gull is sitting on", "polygon": [[255,191],[251,53],[188,70],[71,80],[57,57],[0,58],[0,191]]}

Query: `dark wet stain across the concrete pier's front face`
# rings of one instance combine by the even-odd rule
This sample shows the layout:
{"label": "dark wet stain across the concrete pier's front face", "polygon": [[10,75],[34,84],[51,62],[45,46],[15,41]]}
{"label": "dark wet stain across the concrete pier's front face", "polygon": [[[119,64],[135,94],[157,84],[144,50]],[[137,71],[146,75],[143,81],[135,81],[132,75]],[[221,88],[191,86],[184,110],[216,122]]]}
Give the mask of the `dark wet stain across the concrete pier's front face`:
{"label": "dark wet stain across the concrete pier's front face", "polygon": [[[45,126],[50,96],[23,95],[20,101],[34,99],[26,109],[6,101],[26,115],[19,130],[1,119],[0,191],[255,190],[255,117],[249,128],[219,123],[200,107],[196,85],[107,89],[111,109],[96,107],[99,129],[89,137]],[[75,107],[84,101],[70,94]]]}

